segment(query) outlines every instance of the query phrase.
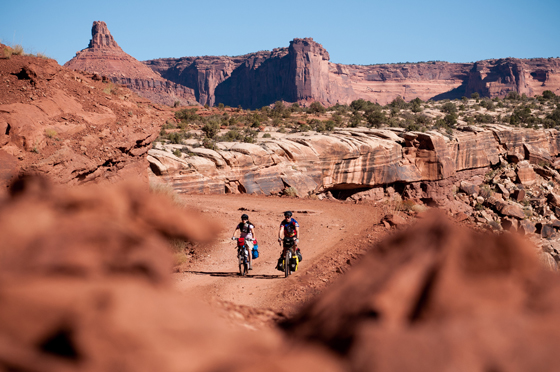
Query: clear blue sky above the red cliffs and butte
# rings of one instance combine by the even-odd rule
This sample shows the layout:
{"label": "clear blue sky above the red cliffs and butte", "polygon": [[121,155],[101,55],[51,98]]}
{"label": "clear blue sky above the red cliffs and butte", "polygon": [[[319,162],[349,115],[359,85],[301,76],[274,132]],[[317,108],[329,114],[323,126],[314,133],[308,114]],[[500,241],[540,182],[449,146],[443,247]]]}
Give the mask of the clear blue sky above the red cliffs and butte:
{"label": "clear blue sky above the red cliffs and butte", "polygon": [[138,60],[241,55],[296,37],[344,64],[560,56],[560,0],[1,0],[0,13],[3,43],[60,64],[98,20]]}

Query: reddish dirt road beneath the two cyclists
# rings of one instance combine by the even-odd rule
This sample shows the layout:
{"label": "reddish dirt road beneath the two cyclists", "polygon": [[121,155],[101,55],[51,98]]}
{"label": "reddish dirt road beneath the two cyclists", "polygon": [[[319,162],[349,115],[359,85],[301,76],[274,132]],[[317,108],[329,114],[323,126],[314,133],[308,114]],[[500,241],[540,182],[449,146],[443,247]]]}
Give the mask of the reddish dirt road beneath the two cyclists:
{"label": "reddish dirt road beneath the two cyclists", "polygon": [[[179,290],[208,301],[222,300],[238,305],[292,312],[299,303],[279,296],[287,288],[309,284],[310,269],[325,256],[336,256],[355,248],[353,241],[379,222],[379,208],[336,201],[301,200],[248,195],[184,196],[187,206],[202,210],[223,227],[209,253],[184,272],[175,274]],[[247,211],[240,210],[246,208]],[[285,210],[299,222],[303,261],[300,270],[286,279],[275,269],[280,248],[277,234]],[[256,226],[260,257],[247,277],[237,275],[232,232],[242,213]],[[305,275],[307,274],[307,275]],[[315,274],[316,276],[316,274]]]}

